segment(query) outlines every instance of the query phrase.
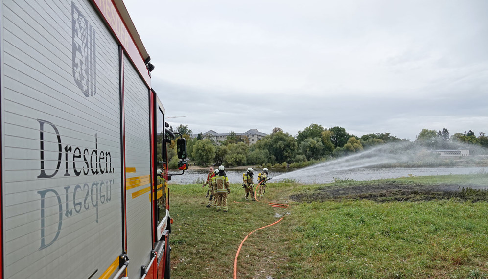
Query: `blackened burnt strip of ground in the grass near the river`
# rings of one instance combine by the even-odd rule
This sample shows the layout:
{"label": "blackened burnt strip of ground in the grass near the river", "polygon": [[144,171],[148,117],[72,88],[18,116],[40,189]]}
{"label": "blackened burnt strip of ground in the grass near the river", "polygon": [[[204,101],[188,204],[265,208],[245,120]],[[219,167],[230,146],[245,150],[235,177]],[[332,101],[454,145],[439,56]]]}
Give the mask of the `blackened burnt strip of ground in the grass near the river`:
{"label": "blackened burnt strip of ground in the grass near the river", "polygon": [[430,201],[458,198],[463,201],[488,201],[488,185],[364,185],[326,186],[311,193],[292,195],[295,201],[311,202],[342,199],[366,199],[377,202]]}

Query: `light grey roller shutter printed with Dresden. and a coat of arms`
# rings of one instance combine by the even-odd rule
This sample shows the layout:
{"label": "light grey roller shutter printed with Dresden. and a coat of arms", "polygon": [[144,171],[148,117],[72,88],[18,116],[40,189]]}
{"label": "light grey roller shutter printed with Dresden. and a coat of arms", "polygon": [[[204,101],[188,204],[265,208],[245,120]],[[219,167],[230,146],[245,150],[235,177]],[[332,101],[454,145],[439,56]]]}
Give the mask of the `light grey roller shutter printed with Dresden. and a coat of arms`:
{"label": "light grey roller shutter printed with Dresden. and a coat of arms", "polygon": [[0,4],[4,278],[98,278],[122,243],[118,44],[88,1]]}

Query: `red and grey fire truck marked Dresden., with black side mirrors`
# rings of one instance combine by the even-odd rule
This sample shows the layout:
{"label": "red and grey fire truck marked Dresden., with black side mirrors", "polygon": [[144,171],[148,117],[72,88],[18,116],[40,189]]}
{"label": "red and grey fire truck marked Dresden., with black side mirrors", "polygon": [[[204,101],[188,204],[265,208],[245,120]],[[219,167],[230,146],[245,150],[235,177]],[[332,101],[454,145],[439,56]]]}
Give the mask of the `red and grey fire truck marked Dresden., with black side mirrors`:
{"label": "red and grey fire truck marked Dresden., with black side mirrors", "polygon": [[0,35],[1,278],[169,278],[186,141],[122,0],[0,0]]}

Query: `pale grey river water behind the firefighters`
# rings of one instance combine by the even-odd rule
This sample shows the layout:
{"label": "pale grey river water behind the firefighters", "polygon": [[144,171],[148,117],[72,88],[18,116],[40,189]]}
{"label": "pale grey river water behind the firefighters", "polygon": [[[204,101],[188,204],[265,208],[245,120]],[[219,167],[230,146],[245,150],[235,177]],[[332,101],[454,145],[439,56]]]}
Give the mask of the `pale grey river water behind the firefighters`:
{"label": "pale grey river water behind the firefighters", "polygon": [[[271,182],[280,181],[280,178],[295,179],[296,182],[304,184],[321,184],[333,182],[334,178],[353,179],[353,180],[374,180],[383,178],[398,178],[403,176],[429,176],[429,175],[448,175],[448,174],[473,174],[485,171],[484,167],[370,167],[370,168],[353,168],[345,170],[327,170],[327,168],[318,169],[298,169],[298,170],[270,170],[269,177],[277,179]],[[170,173],[174,173],[171,171]],[[227,170],[230,183],[242,183],[242,174],[245,170]],[[193,184],[197,179],[207,178],[206,170],[186,170],[184,175],[172,176],[169,184]],[[257,169],[254,173],[257,181]]]}

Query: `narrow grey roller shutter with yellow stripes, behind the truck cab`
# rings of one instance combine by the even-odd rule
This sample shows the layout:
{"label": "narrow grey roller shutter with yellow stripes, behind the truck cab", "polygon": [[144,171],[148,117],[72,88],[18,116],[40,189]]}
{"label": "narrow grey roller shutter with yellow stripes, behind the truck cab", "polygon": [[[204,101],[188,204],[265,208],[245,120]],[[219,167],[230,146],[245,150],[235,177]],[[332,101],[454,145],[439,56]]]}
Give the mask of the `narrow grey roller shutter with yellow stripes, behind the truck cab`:
{"label": "narrow grey roller shutter with yellow stripes, behind the truck cab", "polygon": [[149,90],[126,56],[124,97],[125,165],[135,168],[134,173],[126,174],[128,276],[136,278],[140,266],[149,263],[152,249]]}

